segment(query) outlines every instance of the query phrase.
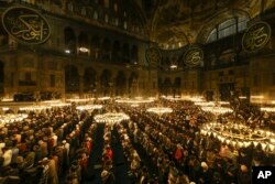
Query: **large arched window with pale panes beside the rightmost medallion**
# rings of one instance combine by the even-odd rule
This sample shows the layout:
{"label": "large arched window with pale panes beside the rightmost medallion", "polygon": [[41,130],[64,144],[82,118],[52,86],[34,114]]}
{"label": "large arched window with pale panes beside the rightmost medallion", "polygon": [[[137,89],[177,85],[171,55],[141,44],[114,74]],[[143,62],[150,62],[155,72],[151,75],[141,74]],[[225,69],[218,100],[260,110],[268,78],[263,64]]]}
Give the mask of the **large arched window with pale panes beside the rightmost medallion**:
{"label": "large arched window with pale panes beside the rightmost medallion", "polygon": [[248,21],[249,19],[246,17],[226,20],[224,22],[216,25],[216,28],[210,32],[207,43],[215,42],[217,39],[220,40],[245,30]]}

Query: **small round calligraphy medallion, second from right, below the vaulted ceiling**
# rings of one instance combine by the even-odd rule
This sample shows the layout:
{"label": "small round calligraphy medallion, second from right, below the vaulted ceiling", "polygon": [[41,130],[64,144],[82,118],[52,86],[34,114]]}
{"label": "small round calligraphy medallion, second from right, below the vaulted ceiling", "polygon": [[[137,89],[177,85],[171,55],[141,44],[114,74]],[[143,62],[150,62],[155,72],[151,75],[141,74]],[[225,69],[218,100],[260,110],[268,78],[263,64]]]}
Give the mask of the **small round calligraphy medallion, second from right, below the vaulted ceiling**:
{"label": "small round calligraphy medallion, second from right, below the vaulted ceiling", "polygon": [[184,58],[187,66],[199,66],[204,61],[204,52],[199,47],[191,47],[186,51]]}

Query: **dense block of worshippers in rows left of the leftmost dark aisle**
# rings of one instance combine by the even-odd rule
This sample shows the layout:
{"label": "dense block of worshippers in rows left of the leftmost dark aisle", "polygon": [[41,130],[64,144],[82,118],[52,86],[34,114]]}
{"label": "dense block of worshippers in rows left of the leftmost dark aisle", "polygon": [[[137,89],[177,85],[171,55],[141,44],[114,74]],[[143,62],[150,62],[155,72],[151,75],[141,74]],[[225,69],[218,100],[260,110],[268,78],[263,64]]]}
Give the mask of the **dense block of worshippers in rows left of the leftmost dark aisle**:
{"label": "dense block of worshippers in rows left of the leftmost dark aisle", "polygon": [[0,126],[1,183],[80,183],[96,130],[87,112],[52,108]]}

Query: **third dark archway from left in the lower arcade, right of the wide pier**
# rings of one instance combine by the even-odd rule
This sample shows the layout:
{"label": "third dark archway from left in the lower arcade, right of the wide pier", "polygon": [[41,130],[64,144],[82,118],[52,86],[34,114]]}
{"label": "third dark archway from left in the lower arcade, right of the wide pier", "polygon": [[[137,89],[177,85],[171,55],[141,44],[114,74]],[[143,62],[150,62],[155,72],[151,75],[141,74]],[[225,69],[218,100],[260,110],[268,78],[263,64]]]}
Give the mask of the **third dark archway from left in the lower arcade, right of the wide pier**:
{"label": "third dark archway from left in the lower arcade, right of the wide pier", "polygon": [[111,76],[112,74],[109,69],[105,69],[100,76],[100,87],[103,96],[110,95],[110,89],[113,86]]}

